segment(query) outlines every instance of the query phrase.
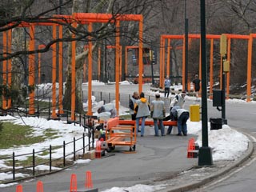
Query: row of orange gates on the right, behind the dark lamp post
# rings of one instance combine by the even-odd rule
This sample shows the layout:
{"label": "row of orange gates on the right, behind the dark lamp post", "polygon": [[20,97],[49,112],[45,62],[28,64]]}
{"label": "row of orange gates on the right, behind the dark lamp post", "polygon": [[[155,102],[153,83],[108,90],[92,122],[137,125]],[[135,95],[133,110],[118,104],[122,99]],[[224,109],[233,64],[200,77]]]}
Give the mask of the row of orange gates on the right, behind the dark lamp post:
{"label": "row of orange gates on the right, behind the dark lamp post", "polygon": [[[213,92],[213,85],[214,85],[214,79],[213,79],[213,53],[214,53],[214,39],[220,39],[221,35],[215,35],[215,34],[206,34],[206,38],[210,39],[210,94]],[[251,97],[251,63],[252,63],[252,42],[253,38],[256,38],[256,34],[250,34],[250,35],[240,35],[240,34],[226,34],[227,37],[227,60],[230,61],[230,52],[231,52],[231,39],[247,39],[248,40],[248,56],[247,56],[247,102],[250,102]],[[160,39],[160,86],[162,86],[162,82],[164,79],[164,66],[165,66],[165,39],[168,39],[168,47],[170,47],[170,41],[169,39],[182,39],[183,40],[183,58],[182,58],[182,85],[185,84],[185,36],[184,35],[167,35],[163,34],[161,35]],[[200,38],[200,34],[189,34],[190,38]],[[167,55],[169,54],[169,49],[167,50]],[[200,50],[201,55],[201,50]],[[167,59],[167,67],[169,59]],[[222,61],[221,61],[222,65]],[[170,67],[168,67],[170,68]],[[222,74],[222,67],[220,70],[220,74]],[[168,75],[168,70],[167,70]],[[199,59],[199,76],[201,78],[201,59]],[[227,74],[227,82],[226,82],[226,94],[230,94],[230,73]],[[220,75],[220,85],[222,85],[222,75]],[[227,97],[228,98],[228,97]]]}

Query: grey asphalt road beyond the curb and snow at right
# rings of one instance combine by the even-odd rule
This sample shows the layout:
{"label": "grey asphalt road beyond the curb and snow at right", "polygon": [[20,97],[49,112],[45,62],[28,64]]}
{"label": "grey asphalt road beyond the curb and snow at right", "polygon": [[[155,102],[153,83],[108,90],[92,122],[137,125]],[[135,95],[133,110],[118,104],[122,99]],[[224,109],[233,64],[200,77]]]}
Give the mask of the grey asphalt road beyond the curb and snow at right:
{"label": "grey asphalt road beyond the curb and snow at right", "polygon": [[[123,91],[131,92],[131,87],[127,86]],[[143,90],[148,90],[148,86],[144,86]],[[186,108],[188,109],[193,101],[186,100]],[[207,103],[208,119],[221,118],[222,114],[212,102]],[[244,131],[253,135],[256,138],[256,103],[247,102],[226,102],[226,119],[228,125],[237,130]],[[254,144],[255,145],[255,144]],[[251,161],[245,166],[240,167],[233,174],[220,178],[210,186],[204,186],[201,189],[194,190],[195,192],[241,192],[241,191],[256,191],[256,154],[251,157]],[[222,180],[223,179],[223,180]]]}

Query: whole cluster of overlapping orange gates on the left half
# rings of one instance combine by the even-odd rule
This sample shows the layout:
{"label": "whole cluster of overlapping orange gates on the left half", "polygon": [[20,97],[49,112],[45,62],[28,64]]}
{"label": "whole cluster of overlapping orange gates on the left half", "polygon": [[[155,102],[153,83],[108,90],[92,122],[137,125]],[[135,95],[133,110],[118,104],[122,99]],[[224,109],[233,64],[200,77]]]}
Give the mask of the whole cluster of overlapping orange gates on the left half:
{"label": "whole cluster of overlapping orange gates on the left half", "polygon": [[[58,15],[55,15],[55,17],[58,17]],[[61,15],[61,17],[63,18],[63,15]],[[68,18],[68,22],[72,22],[72,25],[74,27],[77,26],[77,23],[83,23],[83,24],[88,24],[88,31],[91,32],[92,31],[92,22],[110,22],[111,19],[113,19],[113,15],[112,14],[85,14],[85,13],[74,13],[73,15],[64,15],[65,18]],[[59,18],[54,18],[54,20],[57,20]],[[74,22],[76,21],[76,22]],[[143,29],[143,18],[141,14],[123,14],[123,15],[118,15],[116,18],[116,27],[117,27],[117,32],[116,32],[116,108],[117,110],[119,109],[119,63],[120,63],[120,57],[119,57],[119,52],[120,52],[120,35],[119,35],[119,27],[120,27],[120,21],[135,21],[135,22],[139,22],[139,42],[138,42],[138,46],[139,46],[139,71],[142,71],[142,29]],[[35,26],[53,26],[53,39],[57,38],[57,30],[56,27],[58,26],[58,24],[55,23],[27,23],[27,22],[22,22],[22,24],[19,27],[30,27],[30,46],[29,46],[29,51],[33,51],[34,50],[34,27]],[[6,40],[6,32],[4,32],[3,35],[3,44],[7,45],[8,43],[8,47],[11,46],[11,38],[8,38],[8,40]],[[8,31],[8,33],[10,33],[11,35],[11,30]],[[10,37],[9,35],[9,37]],[[73,38],[75,38],[75,35],[72,35]],[[59,38],[62,37],[62,26],[59,26]],[[89,66],[88,66],[88,114],[92,114],[92,101],[91,101],[91,74],[90,73],[92,71],[92,42],[90,41],[92,37],[89,36]],[[71,86],[72,86],[72,90],[71,90],[71,119],[75,120],[75,116],[74,116],[74,110],[75,110],[75,45],[76,42],[73,41],[72,43],[72,58],[71,58]],[[60,104],[60,110],[59,112],[62,112],[62,43],[59,44],[60,46],[60,59],[59,59],[59,64],[60,69],[59,69],[59,73],[61,75],[59,75],[60,79],[60,96],[61,98],[59,99],[59,104]],[[53,47],[53,70],[52,70],[52,75],[53,75],[53,101],[52,101],[52,118],[56,118],[56,47],[57,45],[54,43]],[[10,48],[9,48],[10,49]],[[3,52],[6,53],[5,51],[5,47],[3,48]],[[34,86],[34,54],[30,54],[29,55],[29,86]],[[3,71],[6,71],[6,61],[3,62]],[[8,69],[11,69],[11,61],[8,62],[9,66]],[[11,78],[11,74],[8,75],[8,80]],[[6,76],[3,75],[3,81],[6,82]],[[9,81],[10,83],[10,81]],[[142,73],[139,74],[139,92],[142,91]],[[3,101],[5,101],[6,99],[3,99]],[[8,101],[8,103],[10,103],[10,101]],[[3,108],[6,109],[6,102],[2,103],[2,106],[4,106]],[[30,93],[30,107],[29,107],[29,114],[34,114],[34,90],[31,91]]]}

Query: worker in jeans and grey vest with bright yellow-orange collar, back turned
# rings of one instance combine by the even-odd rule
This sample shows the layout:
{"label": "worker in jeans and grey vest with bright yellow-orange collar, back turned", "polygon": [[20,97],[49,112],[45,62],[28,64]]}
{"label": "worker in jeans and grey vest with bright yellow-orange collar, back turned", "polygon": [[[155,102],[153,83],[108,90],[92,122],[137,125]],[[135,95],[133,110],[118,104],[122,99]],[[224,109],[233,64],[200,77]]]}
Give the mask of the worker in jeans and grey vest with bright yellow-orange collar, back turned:
{"label": "worker in jeans and grey vest with bright yellow-orange collar, back turned", "polygon": [[139,99],[135,102],[134,112],[136,114],[136,132],[138,134],[139,121],[142,119],[141,137],[144,136],[145,120],[150,116],[150,105],[145,98],[145,94],[142,92],[139,95]]}

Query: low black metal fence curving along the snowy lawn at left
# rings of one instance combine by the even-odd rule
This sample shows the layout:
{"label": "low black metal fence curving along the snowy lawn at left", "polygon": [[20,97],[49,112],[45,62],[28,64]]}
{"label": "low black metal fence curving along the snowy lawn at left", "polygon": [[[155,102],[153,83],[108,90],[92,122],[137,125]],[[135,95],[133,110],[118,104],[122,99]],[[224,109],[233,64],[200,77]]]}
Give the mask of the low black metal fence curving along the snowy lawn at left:
{"label": "low black metal fence curving along the snowy lawn at left", "polygon": [[[60,170],[66,168],[67,166],[71,166],[74,161],[78,158],[78,155],[84,155],[86,152],[91,149],[94,149],[94,121],[92,119],[94,118],[93,116],[86,116],[86,115],[76,115],[78,116],[78,121],[73,121],[71,122],[69,120],[68,116],[69,112],[66,111],[66,122],[67,123],[74,123],[74,125],[78,124],[79,126],[82,126],[85,132],[82,134],[82,137],[80,138],[73,138],[72,141],[66,142],[63,141],[62,144],[59,146],[49,146],[48,149],[46,150],[38,150],[35,151],[34,149],[31,151],[31,153],[27,154],[15,154],[13,152],[12,155],[10,156],[5,156],[0,158],[0,160],[3,160],[4,162],[7,162],[9,166],[5,169],[1,169],[0,173],[6,173],[10,174],[12,173],[12,178],[6,179],[2,183],[8,183],[8,182],[14,182],[18,180],[22,180],[25,178],[30,178],[34,176],[39,176],[39,175],[44,175],[48,174],[51,172],[55,172],[56,170],[53,170],[53,166],[60,168]],[[86,139],[88,139],[88,142],[86,144]],[[77,148],[76,143],[77,142],[82,142],[82,148]],[[73,146],[73,151],[67,153],[66,147],[67,146]],[[60,158],[53,158],[53,152],[54,150],[60,150],[62,149],[62,157]],[[81,151],[81,153],[79,153]],[[48,155],[48,158],[37,158],[37,155],[42,155],[46,154]],[[45,155],[44,155],[45,156]],[[21,157],[26,157],[26,162],[22,160],[18,160]],[[22,158],[23,159],[23,158]],[[45,161],[42,161],[45,160]],[[22,166],[22,163],[25,164],[26,166]],[[37,166],[42,166],[46,165],[49,166],[49,170],[36,170]],[[12,167],[12,168],[10,168]],[[23,174],[24,177],[19,176],[19,174]],[[17,176],[18,175],[18,176]],[[0,182],[1,183],[1,182]]]}

